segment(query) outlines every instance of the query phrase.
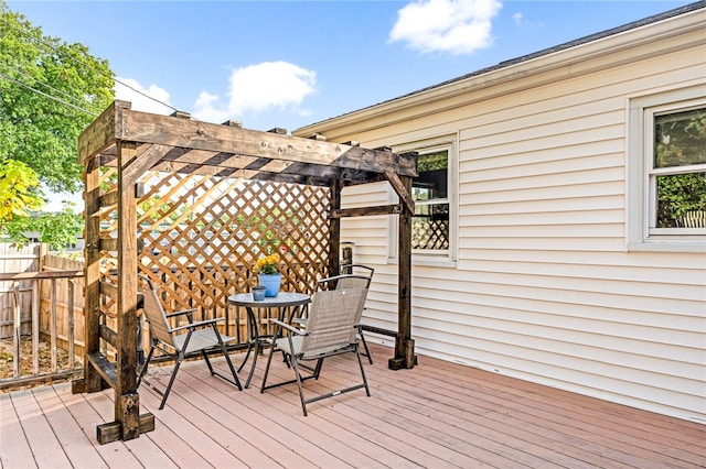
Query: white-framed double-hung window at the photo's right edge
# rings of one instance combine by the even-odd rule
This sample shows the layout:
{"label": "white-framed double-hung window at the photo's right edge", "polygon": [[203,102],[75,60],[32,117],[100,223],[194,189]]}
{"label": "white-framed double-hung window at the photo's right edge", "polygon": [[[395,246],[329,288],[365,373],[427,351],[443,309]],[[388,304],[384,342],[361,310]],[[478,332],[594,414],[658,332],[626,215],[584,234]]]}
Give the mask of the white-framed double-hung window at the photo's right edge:
{"label": "white-framed double-hung window at the photo's right edge", "polygon": [[630,108],[629,249],[704,249],[704,96],[692,88],[640,98]]}

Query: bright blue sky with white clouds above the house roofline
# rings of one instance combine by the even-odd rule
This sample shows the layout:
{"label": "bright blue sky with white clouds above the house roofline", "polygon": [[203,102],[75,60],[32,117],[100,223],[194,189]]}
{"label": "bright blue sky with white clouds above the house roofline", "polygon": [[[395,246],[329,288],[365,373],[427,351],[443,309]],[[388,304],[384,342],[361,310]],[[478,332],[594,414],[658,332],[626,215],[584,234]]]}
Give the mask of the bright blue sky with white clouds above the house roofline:
{"label": "bright blue sky with white clouds above the house roofline", "polygon": [[[194,118],[291,131],[689,1],[7,3]],[[116,91],[133,109],[173,111]]]}

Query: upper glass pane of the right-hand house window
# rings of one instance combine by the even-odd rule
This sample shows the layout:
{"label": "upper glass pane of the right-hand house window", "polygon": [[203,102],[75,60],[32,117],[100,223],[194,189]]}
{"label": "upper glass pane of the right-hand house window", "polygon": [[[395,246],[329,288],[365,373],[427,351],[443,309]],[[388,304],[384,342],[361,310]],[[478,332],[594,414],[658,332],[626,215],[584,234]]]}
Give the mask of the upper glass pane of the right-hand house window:
{"label": "upper glass pane of the right-hand house window", "polygon": [[706,163],[706,108],[655,116],[654,167]]}

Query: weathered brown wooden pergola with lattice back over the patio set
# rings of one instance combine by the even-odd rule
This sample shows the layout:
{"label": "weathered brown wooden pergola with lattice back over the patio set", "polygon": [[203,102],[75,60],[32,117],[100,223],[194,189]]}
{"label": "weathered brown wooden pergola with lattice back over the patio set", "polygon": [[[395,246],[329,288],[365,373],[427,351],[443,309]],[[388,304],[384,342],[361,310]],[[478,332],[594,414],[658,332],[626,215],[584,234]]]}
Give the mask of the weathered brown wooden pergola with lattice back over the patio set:
{"label": "weathered brown wooden pergola with lattice back over the patio set", "polygon": [[[175,113],[160,116],[132,111],[130,103],[115,101],[81,135],[78,140],[78,159],[84,165],[85,181],[85,360],[84,378],[73,383],[73,392],[97,392],[106,386],[115,390],[115,422],[99,425],[97,437],[100,443],[118,439],[137,438],[140,433],[154,427],[154,417],[150,413],[140,414],[139,394],[137,390],[138,369],[138,274],[161,275],[172,283],[186,279],[199,283],[208,277],[211,284],[229,285],[228,288],[243,288],[247,279],[242,273],[240,264],[246,263],[249,253],[239,251],[236,263],[227,263],[227,254],[222,251],[207,251],[204,241],[193,242],[189,250],[173,254],[169,242],[173,237],[181,244],[188,244],[189,236],[194,232],[212,231],[211,237],[217,242],[217,249],[233,246],[231,234],[238,231],[244,239],[243,246],[257,247],[261,240],[256,239],[264,230],[253,228],[256,223],[269,223],[268,233],[281,229],[281,221],[265,221],[267,217],[277,218],[289,210],[276,208],[277,215],[244,216],[233,206],[237,206],[237,197],[227,199],[227,189],[223,196],[212,198],[212,206],[201,209],[199,214],[185,214],[175,210],[168,204],[169,198],[182,198],[182,206],[193,206],[193,199],[200,193],[194,188],[206,178],[217,181],[255,182],[257,187],[284,184],[291,187],[318,187],[328,190],[329,207],[323,210],[311,209],[327,220],[323,230],[328,234],[328,249],[319,264],[325,264],[314,271],[314,275],[338,272],[341,246],[341,219],[343,217],[361,217],[374,215],[397,215],[399,220],[399,263],[398,263],[398,330],[391,331],[395,336],[395,356],[389,359],[391,369],[413,368],[415,364],[414,340],[411,339],[411,217],[414,201],[411,199],[411,179],[417,175],[417,155],[395,154],[389,149],[367,150],[349,142],[331,143],[314,135],[311,139],[289,137],[286,131],[275,129],[270,132],[246,130],[235,122],[214,124],[193,120],[189,114]],[[156,173],[157,172],[157,173]],[[161,173],[159,173],[161,172]],[[146,189],[146,175],[154,181],[151,192]],[[163,185],[167,176],[173,175],[173,186]],[[185,188],[182,176],[196,177],[191,188]],[[341,192],[347,185],[367,184],[386,181],[399,196],[399,203],[385,206],[341,208]],[[162,185],[160,185],[162,184]],[[235,187],[235,183],[227,187]],[[240,186],[238,186],[240,187]],[[206,192],[215,190],[208,186]],[[149,192],[149,194],[146,194]],[[304,197],[306,194],[304,193]],[[227,203],[223,201],[226,198]],[[272,195],[287,198],[286,194]],[[257,198],[257,197],[255,197]],[[205,199],[205,198],[204,198]],[[270,199],[274,200],[274,199]],[[147,204],[149,201],[150,204]],[[143,208],[145,205],[147,208]],[[277,201],[268,201],[271,206]],[[298,203],[297,203],[298,204]],[[236,207],[237,208],[237,207]],[[248,214],[264,214],[265,208],[246,206]],[[244,210],[240,210],[244,211]],[[206,215],[203,215],[203,214]],[[297,217],[306,216],[301,209]],[[319,214],[322,212],[322,214]],[[175,220],[170,226],[170,233],[158,233],[157,222],[151,226],[145,220],[149,216],[160,220],[171,217]],[[190,218],[191,217],[191,218]],[[184,220],[195,219],[191,225]],[[293,219],[293,218],[291,218]],[[142,221],[140,221],[142,220]],[[224,221],[226,220],[226,221]],[[256,220],[256,221],[253,221]],[[301,222],[301,225],[310,221]],[[243,223],[242,226],[238,223]],[[296,222],[285,221],[286,225]],[[106,225],[108,226],[106,228]],[[147,225],[147,228],[145,226]],[[182,226],[186,226],[182,230]],[[248,228],[249,227],[249,228]],[[292,229],[289,228],[290,232]],[[175,234],[173,234],[175,233]],[[150,239],[149,237],[153,238]],[[248,238],[252,237],[252,238]],[[309,233],[307,237],[310,238]],[[210,238],[211,239],[211,238]],[[154,254],[145,246],[146,240],[158,240],[162,253]],[[289,240],[290,241],[290,240]],[[289,242],[288,241],[288,242]],[[307,285],[311,272],[317,265],[315,246],[312,248],[301,238],[293,244],[292,252],[306,262],[289,259],[289,286]],[[324,240],[325,242],[325,240]],[[176,248],[182,249],[183,246]],[[174,248],[174,249],[176,249]],[[282,249],[287,246],[282,244]],[[176,258],[190,261],[210,258],[216,252],[218,262],[207,268],[197,266],[191,270],[180,268]],[[235,252],[235,251],[234,251]],[[156,255],[162,255],[158,262]],[[165,261],[164,261],[165,260]],[[169,262],[169,266],[165,266]],[[194,263],[192,262],[192,263]],[[229,261],[228,261],[229,262]],[[147,266],[146,266],[147,265]],[[200,272],[200,273],[196,273]],[[181,276],[180,276],[181,275]],[[213,279],[218,279],[214,281]],[[229,283],[228,283],[229,282]],[[213,286],[213,285],[212,285]],[[217,286],[217,285],[216,285]],[[222,293],[203,294],[200,297],[184,299],[181,293],[174,293],[174,302],[189,301],[204,308],[217,308],[222,305]],[[221,303],[218,303],[221,302]],[[114,327],[105,320],[106,309],[114,315]],[[381,331],[377,329],[377,331]],[[106,352],[109,349],[111,352]]]}

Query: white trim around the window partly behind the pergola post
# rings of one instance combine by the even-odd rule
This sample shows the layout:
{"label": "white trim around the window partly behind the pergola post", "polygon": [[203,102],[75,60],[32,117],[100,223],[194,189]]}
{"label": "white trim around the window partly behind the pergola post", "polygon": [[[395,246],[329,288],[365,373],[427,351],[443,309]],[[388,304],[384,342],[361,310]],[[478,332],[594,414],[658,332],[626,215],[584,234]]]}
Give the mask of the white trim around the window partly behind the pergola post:
{"label": "white trim around the window partly behind the pergola post", "polygon": [[[442,251],[413,251],[411,262],[420,265],[432,266],[453,266],[457,260],[458,249],[458,133],[446,134],[430,139],[418,140],[414,142],[405,142],[402,144],[391,145],[395,153],[406,152],[419,152],[431,153],[440,150],[448,150],[449,152],[449,182],[447,199],[449,204],[449,249]],[[388,189],[388,200],[391,204],[398,201],[397,195],[394,190]],[[389,261],[396,262],[398,259],[398,243],[397,239],[399,234],[399,227],[397,217],[391,217],[389,219]]]}

